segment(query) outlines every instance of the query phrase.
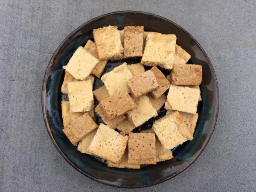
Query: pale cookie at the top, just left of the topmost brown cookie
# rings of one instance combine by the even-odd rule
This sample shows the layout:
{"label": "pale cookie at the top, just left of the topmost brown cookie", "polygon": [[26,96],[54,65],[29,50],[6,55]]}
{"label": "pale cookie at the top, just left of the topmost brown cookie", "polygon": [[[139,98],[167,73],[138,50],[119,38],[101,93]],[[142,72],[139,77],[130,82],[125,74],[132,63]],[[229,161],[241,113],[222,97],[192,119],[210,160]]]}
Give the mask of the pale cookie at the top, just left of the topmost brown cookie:
{"label": "pale cookie at the top, just left of the topmost brown cookie", "polygon": [[118,60],[123,57],[124,48],[116,26],[93,29],[93,38],[99,60]]}

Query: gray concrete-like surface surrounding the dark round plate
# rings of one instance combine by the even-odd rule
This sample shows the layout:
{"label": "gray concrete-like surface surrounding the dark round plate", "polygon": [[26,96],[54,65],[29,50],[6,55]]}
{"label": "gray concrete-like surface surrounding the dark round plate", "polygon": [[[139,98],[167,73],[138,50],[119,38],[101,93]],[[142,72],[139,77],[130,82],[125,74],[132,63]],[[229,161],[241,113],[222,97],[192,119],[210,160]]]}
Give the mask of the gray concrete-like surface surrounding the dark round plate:
{"label": "gray concrete-like surface surrounding the dark round plate", "polygon": [[[73,169],[41,110],[41,84],[58,45],[93,17],[141,10],[166,17],[204,47],[220,89],[212,138],[175,178],[116,189]],[[256,191],[256,1],[0,0],[0,191]]]}

